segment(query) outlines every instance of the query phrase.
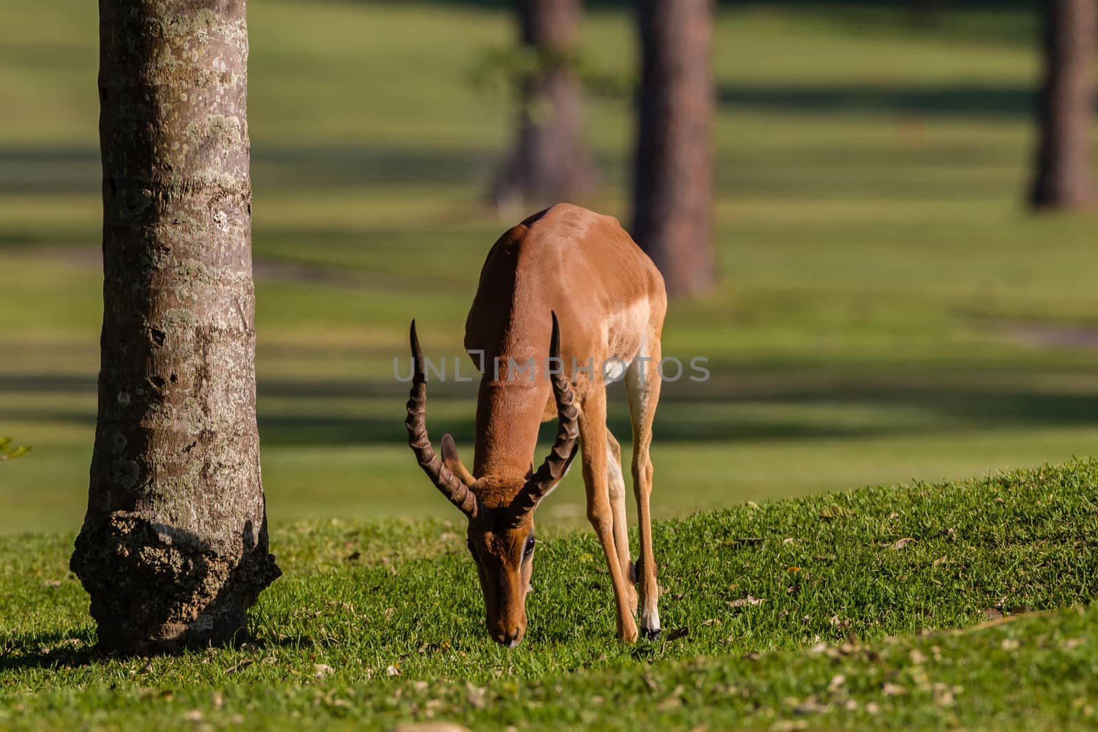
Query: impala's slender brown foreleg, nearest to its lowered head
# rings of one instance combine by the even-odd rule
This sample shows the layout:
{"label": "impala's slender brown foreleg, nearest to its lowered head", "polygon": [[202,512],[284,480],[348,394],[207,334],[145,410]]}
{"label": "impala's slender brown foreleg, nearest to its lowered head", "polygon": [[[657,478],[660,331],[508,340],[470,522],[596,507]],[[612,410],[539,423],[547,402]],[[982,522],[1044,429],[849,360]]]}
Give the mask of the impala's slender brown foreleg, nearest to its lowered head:
{"label": "impala's slender brown foreleg, nearest to its lowered head", "polygon": [[637,621],[629,607],[629,581],[614,544],[614,511],[606,480],[606,390],[595,388],[583,401],[580,413],[580,449],[583,454],[583,484],[587,488],[587,519],[595,529],[614,584],[618,638],[637,640]]}

